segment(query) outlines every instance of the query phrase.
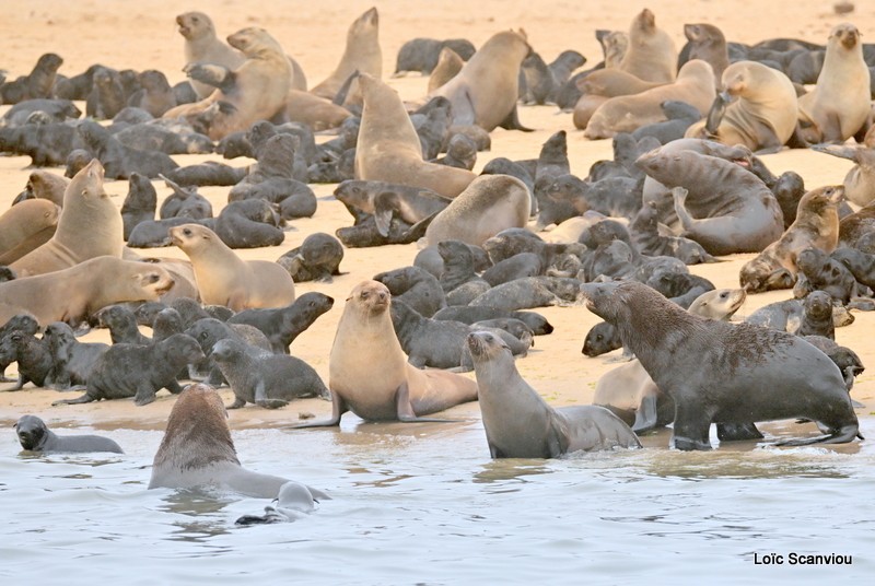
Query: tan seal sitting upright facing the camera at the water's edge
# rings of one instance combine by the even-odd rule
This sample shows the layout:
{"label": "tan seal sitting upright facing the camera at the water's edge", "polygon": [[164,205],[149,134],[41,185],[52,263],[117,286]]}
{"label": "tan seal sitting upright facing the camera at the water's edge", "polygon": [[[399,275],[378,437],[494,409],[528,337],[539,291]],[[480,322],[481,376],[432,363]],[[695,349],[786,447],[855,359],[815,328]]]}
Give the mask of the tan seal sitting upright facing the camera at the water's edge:
{"label": "tan seal sitting upright facing the camera at the water's edge", "polygon": [[389,290],[376,281],[352,290],[328,359],[331,418],[301,427],[339,425],[347,411],[366,421],[434,421],[421,415],[477,399],[474,380],[407,362],[392,325],[389,298]]}

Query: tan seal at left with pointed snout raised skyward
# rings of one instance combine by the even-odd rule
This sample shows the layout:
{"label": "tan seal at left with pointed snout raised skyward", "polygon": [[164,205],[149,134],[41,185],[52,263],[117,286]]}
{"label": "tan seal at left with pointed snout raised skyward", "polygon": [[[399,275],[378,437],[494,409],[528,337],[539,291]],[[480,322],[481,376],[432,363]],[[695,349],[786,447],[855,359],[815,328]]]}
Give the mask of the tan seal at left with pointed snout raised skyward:
{"label": "tan seal at left with pointed snout raised skyward", "polygon": [[103,188],[103,165],[93,159],[75,174],[63,195],[55,235],[10,267],[19,277],[67,269],[98,256],[121,258],[121,212]]}

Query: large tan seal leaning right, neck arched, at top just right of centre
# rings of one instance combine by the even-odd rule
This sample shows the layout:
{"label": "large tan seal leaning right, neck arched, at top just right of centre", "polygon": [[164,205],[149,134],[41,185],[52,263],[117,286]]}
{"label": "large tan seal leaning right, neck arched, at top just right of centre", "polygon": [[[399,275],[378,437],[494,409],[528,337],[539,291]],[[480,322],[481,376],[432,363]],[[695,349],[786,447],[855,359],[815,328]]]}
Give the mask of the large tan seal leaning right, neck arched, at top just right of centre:
{"label": "large tan seal leaning right, neck arched, at top just right of centre", "polygon": [[455,125],[477,125],[487,131],[498,126],[526,130],[517,119],[516,102],[520,66],[530,51],[520,33],[497,33],[432,96],[444,96],[453,103]]}

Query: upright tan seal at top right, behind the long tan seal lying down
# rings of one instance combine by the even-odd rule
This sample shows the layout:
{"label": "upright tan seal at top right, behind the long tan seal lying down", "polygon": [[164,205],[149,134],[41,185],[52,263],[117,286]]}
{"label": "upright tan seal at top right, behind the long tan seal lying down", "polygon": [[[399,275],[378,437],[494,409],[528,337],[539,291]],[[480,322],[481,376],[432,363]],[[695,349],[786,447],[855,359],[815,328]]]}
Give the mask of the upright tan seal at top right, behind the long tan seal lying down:
{"label": "upright tan seal at top right, behind the long tan seal lying down", "polygon": [[670,83],[677,73],[677,48],[668,33],[656,27],[656,16],[648,9],[632,20],[629,47],[619,68],[644,81]]}

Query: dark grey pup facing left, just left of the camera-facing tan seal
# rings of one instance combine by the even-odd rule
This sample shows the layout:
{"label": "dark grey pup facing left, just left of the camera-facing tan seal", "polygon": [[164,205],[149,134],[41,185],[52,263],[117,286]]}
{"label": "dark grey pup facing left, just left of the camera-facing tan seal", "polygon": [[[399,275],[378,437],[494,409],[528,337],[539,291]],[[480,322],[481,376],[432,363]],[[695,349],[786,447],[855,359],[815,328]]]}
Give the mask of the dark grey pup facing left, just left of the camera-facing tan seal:
{"label": "dark grey pup facing left, just left of the camera-facing tan seal", "polygon": [[234,391],[234,402],[228,409],[240,409],[247,402],[278,409],[293,399],[329,398],[319,375],[301,359],[271,354],[232,339],[219,340],[210,355]]}

